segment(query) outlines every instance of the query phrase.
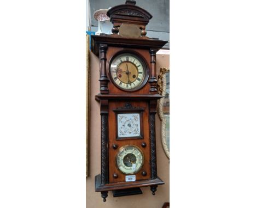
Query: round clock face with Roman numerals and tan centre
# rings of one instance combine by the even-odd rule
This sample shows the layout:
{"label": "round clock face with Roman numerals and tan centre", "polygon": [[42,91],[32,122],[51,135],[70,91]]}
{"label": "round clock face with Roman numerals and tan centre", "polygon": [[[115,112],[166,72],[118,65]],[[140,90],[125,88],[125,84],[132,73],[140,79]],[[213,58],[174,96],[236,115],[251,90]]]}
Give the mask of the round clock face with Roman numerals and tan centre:
{"label": "round clock face with Roman numerals and tan centre", "polygon": [[146,77],[146,66],[133,54],[120,54],[111,63],[110,76],[119,88],[135,89],[142,85]]}

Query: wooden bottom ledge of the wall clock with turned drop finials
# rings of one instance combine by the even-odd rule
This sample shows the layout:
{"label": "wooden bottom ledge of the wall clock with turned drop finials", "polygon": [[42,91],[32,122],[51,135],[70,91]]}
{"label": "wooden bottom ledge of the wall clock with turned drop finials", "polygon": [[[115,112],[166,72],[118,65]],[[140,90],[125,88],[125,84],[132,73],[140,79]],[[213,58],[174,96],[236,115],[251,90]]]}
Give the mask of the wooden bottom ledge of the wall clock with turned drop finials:
{"label": "wooden bottom ledge of the wall clock with turned drop finials", "polygon": [[106,201],[108,197],[108,191],[113,192],[114,197],[123,197],[125,195],[135,195],[142,194],[139,187],[150,186],[152,194],[155,195],[156,188],[158,185],[165,184],[160,178],[150,179],[150,180],[139,180],[133,182],[118,182],[111,184],[101,184],[101,174],[95,176],[95,191],[101,192],[101,197],[103,201]]}

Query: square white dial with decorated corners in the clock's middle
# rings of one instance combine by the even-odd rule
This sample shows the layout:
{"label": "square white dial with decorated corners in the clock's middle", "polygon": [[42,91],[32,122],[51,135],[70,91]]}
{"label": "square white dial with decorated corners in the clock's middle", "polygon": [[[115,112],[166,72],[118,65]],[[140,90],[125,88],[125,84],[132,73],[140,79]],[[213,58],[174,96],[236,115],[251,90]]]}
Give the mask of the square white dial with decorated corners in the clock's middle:
{"label": "square white dial with decorated corners in the clock's middle", "polygon": [[118,120],[118,137],[141,136],[141,120],[139,113],[120,113]]}

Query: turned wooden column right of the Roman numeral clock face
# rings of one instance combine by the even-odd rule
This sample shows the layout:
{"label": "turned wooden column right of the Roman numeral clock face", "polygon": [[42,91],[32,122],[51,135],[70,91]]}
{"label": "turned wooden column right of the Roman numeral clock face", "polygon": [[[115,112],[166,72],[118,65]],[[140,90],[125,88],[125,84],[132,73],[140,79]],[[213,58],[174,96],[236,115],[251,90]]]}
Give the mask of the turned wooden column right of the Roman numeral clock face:
{"label": "turned wooden column right of the Roman numeral clock face", "polygon": [[150,53],[150,67],[151,67],[151,74],[150,74],[150,93],[156,94],[158,93],[158,89],[156,88],[156,84],[158,83],[158,80],[156,79],[156,50],[151,48],[149,50]]}

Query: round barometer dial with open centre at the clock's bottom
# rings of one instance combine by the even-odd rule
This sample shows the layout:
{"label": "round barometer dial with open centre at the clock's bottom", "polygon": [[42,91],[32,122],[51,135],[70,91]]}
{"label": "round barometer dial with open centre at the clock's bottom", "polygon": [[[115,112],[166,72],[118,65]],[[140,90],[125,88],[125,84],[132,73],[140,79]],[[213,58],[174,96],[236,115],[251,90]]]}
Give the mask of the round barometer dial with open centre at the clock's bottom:
{"label": "round barometer dial with open centre at the clock's bottom", "polygon": [[142,151],[135,145],[122,146],[117,153],[117,167],[125,174],[137,173],[144,163]]}

